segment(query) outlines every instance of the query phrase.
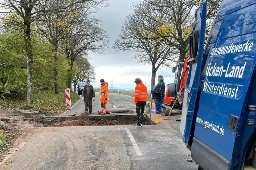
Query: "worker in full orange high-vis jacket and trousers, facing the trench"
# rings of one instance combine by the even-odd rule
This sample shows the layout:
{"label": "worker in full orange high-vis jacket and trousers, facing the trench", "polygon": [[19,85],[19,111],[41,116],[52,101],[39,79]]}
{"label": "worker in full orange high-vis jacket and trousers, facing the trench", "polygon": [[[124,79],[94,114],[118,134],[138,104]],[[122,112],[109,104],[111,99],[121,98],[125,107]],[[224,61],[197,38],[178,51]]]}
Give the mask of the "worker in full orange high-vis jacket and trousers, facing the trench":
{"label": "worker in full orange high-vis jacket and trousers, facing the trench", "polygon": [[106,114],[107,109],[107,98],[108,98],[108,83],[104,81],[104,79],[100,80],[100,93],[101,93],[101,108],[102,113]]}

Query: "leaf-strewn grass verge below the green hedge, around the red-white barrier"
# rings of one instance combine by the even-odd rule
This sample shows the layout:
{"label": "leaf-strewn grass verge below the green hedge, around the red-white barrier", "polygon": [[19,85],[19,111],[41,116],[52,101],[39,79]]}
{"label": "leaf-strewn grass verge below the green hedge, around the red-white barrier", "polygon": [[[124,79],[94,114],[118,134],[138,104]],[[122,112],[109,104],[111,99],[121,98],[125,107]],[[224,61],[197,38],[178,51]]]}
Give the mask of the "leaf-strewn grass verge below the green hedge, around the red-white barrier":
{"label": "leaf-strewn grass verge below the green hedge, around the red-white barrier", "polygon": [[[76,103],[78,94],[71,91],[71,103]],[[25,95],[12,95],[0,97],[1,109],[30,109],[27,105]],[[54,92],[34,92],[34,109],[43,114],[60,114],[65,111],[66,98],[65,93],[55,94]]]}

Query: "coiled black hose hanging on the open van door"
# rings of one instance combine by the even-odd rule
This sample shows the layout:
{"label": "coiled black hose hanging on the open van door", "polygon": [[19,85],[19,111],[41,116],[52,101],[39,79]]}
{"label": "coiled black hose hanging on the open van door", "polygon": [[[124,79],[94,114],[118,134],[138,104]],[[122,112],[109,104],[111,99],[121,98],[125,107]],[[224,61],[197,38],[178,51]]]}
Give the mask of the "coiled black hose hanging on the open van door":
{"label": "coiled black hose hanging on the open van door", "polygon": [[199,30],[191,30],[189,37],[189,58],[193,59],[197,57],[198,43],[199,43]]}

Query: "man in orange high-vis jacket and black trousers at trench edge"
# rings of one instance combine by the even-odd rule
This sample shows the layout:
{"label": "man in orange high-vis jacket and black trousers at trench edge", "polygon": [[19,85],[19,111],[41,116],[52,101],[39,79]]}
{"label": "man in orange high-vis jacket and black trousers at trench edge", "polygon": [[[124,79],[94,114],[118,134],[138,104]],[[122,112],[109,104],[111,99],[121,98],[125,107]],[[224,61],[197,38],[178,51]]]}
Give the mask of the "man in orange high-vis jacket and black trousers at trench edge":
{"label": "man in orange high-vis jacket and black trousers at trench edge", "polygon": [[142,127],[143,113],[147,103],[148,90],[140,78],[136,78],[134,83],[136,83],[134,90],[134,103],[136,104],[137,113],[137,123],[134,125],[134,127]]}

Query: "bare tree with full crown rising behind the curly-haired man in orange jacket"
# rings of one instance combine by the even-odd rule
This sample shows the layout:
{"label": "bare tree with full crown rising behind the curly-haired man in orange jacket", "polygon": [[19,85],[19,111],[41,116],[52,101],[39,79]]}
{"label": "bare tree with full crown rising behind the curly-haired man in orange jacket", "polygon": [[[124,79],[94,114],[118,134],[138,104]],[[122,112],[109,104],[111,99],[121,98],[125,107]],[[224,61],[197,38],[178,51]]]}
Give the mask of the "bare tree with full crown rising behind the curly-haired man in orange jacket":
{"label": "bare tree with full crown rising behind the curly-haired man in orange jacket", "polygon": [[[147,12],[152,18],[147,17]],[[133,14],[125,18],[122,32],[113,48],[117,50],[136,51],[135,59],[142,64],[151,64],[151,88],[155,86],[156,71],[161,66],[170,66],[177,59],[174,46],[167,44],[167,40],[157,38],[152,30],[158,30],[161,20],[166,19],[166,14],[152,10],[152,5],[147,2],[134,4]]]}

